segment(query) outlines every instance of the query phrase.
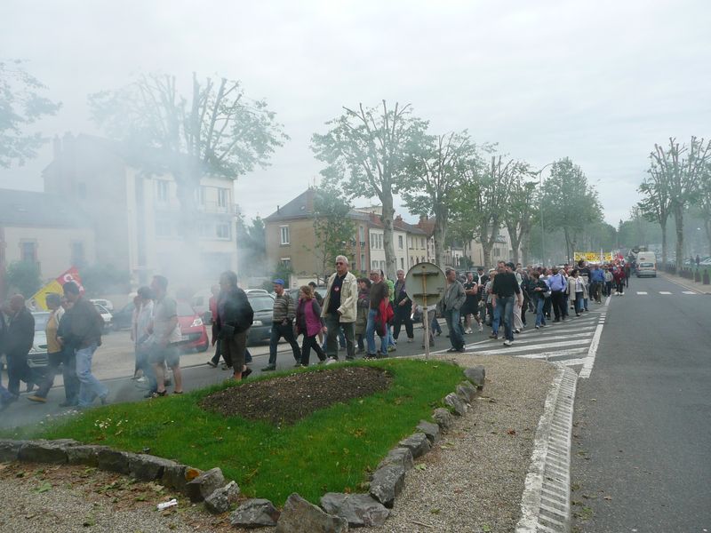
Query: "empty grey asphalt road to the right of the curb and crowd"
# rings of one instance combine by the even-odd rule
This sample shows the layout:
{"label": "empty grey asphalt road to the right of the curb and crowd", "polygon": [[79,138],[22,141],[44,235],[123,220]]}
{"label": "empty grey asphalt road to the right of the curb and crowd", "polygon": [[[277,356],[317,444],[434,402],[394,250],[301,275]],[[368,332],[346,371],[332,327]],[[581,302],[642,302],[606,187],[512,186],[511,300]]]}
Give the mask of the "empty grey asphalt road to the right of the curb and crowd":
{"label": "empty grey asphalt road to the right of the curb and crowd", "polygon": [[574,532],[711,530],[711,296],[684,291],[633,278],[611,298],[578,382]]}

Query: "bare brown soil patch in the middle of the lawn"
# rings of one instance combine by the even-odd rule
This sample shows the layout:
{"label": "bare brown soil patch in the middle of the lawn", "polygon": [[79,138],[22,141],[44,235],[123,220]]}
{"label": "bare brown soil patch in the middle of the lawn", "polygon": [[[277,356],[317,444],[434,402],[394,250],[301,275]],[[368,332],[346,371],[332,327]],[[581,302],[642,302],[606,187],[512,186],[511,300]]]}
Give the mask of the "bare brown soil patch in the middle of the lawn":
{"label": "bare brown soil patch in the middle of the lawn", "polygon": [[316,410],[387,390],[393,378],[368,367],[322,369],[247,381],[206,396],[200,407],[226,417],[294,424]]}

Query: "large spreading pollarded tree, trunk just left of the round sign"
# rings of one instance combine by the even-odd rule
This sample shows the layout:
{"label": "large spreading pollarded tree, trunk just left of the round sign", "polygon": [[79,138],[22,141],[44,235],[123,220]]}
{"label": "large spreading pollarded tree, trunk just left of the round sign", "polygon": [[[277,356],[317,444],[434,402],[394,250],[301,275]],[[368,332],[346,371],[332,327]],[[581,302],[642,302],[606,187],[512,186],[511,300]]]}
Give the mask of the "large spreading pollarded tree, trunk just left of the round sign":
{"label": "large spreading pollarded tree, trunk just left of the round sign", "polygon": [[393,195],[403,185],[406,154],[418,144],[427,122],[412,115],[411,106],[343,108],[345,113],[326,123],[331,129],[315,133],[311,148],[316,158],[327,164],[321,171],[326,180],[343,183],[350,197],[377,197],[382,205],[386,275],[395,277]]}

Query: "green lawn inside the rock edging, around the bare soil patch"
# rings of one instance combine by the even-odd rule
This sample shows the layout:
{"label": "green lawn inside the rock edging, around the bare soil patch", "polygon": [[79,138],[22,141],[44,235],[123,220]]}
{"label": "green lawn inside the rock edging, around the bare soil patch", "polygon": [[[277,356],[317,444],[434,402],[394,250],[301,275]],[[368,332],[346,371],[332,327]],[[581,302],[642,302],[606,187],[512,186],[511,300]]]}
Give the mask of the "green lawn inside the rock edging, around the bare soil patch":
{"label": "green lawn inside the rock edging, around the bare soil patch", "polygon": [[[366,475],[462,380],[448,362],[392,359],[352,362],[279,372],[329,372],[359,366],[385,370],[387,390],[334,403],[281,425],[204,410],[201,401],[240,384],[227,383],[189,394],[88,410],[46,427],[4,432],[13,438],[72,438],[168,457],[209,469],[220,466],[245,495],[284,504],[292,492],[316,503],[328,491],[363,490]],[[253,383],[250,379],[244,383]]]}

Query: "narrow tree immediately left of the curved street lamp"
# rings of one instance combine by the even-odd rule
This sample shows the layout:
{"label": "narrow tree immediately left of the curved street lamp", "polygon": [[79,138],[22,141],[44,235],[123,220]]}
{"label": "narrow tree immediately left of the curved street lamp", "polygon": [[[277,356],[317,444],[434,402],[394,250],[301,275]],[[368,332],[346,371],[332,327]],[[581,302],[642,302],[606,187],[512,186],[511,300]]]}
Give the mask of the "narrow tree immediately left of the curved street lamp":
{"label": "narrow tree immediately left of the curved street lamp", "polygon": [[511,239],[514,251],[514,263],[519,262],[518,251],[523,246],[523,263],[528,262],[528,237],[531,227],[537,217],[535,190],[536,182],[529,181],[531,170],[526,163],[520,163],[513,174],[508,189],[507,209],[504,213],[504,224]]}

